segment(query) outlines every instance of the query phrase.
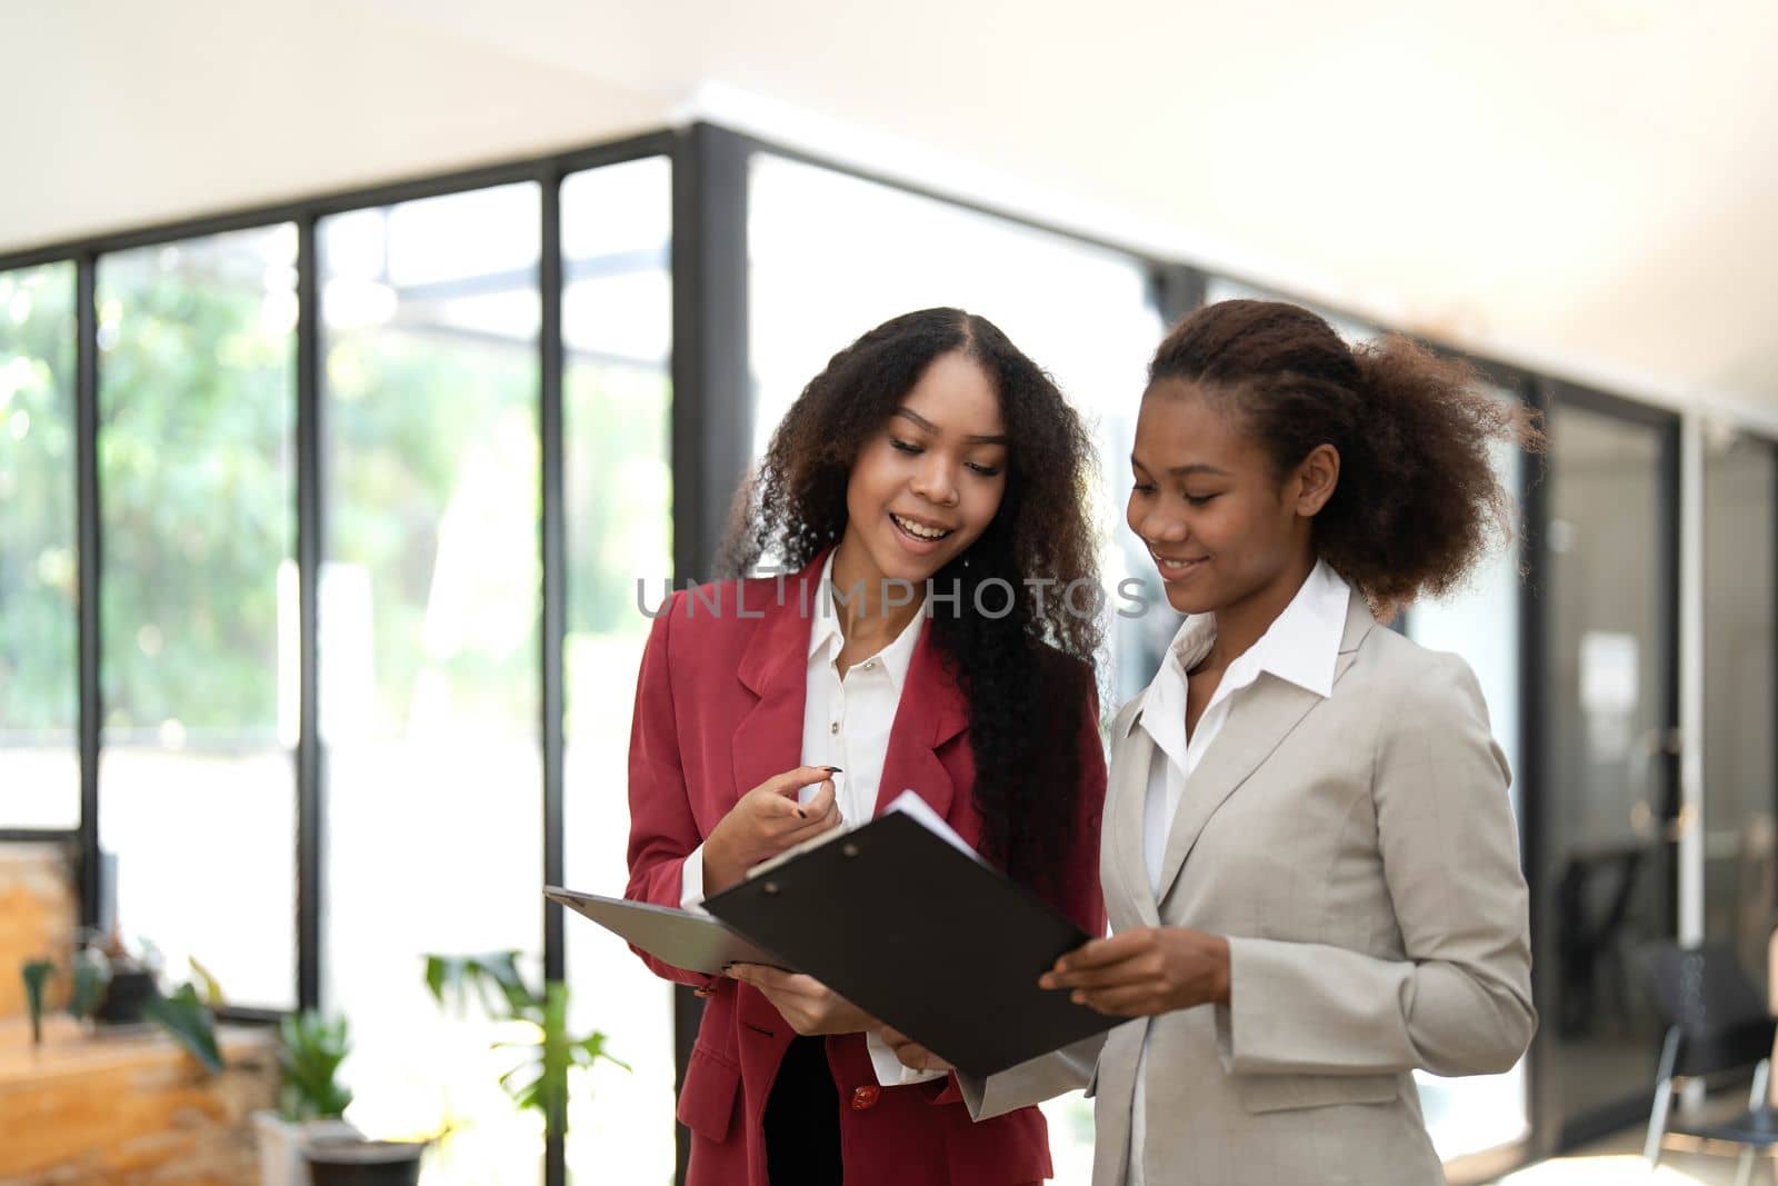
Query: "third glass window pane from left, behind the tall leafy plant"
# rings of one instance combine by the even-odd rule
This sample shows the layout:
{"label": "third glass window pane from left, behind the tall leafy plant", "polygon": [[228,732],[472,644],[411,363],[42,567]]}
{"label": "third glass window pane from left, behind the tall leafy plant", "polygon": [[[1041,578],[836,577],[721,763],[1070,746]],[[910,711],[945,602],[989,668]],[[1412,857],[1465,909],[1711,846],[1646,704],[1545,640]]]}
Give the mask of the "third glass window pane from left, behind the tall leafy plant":
{"label": "third glass window pane from left, behind the tall leafy plant", "polygon": [[[542,946],[535,185],[322,220],[324,1001],[354,1118],[428,1181],[535,1182],[542,1122],[425,953]],[[514,1037],[514,1035],[505,1035]]]}

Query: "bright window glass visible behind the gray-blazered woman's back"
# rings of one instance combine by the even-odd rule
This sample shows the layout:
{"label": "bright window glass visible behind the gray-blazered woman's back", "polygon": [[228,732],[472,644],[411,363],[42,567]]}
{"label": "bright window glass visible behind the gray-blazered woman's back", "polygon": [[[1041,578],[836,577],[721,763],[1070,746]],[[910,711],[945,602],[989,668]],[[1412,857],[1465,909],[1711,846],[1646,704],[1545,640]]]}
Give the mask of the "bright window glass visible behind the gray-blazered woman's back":
{"label": "bright window glass visible behind the gray-blazered woman's back", "polygon": [[[1506,391],[1499,398],[1513,398]],[[1517,448],[1495,446],[1494,469],[1515,496],[1520,489],[1522,457]],[[1517,507],[1515,507],[1517,510]],[[1488,725],[1513,770],[1511,802],[1518,816],[1518,516],[1515,539],[1490,553],[1463,589],[1440,601],[1421,601],[1406,612],[1405,633],[1433,651],[1460,654],[1476,672]],[[1524,827],[1520,825],[1520,834]],[[1415,1072],[1421,1108],[1438,1156],[1451,1159],[1506,1145],[1529,1131],[1526,1115],[1526,1067],[1506,1074],[1444,1079]]]}

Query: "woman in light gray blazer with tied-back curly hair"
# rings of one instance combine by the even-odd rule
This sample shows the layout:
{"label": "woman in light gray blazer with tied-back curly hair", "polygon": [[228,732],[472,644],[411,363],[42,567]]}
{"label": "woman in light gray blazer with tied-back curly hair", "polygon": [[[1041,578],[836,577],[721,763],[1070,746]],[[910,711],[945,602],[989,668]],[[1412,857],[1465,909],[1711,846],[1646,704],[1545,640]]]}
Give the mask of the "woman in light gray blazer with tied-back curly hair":
{"label": "woman in light gray blazer with tied-back curly hair", "polygon": [[[1127,519],[1188,617],[1111,724],[1113,935],[1042,980],[1131,1019],[1095,1186],[1440,1182],[1412,1072],[1529,1044],[1506,761],[1469,667],[1378,626],[1504,519],[1494,439],[1540,443],[1462,365],[1294,306],[1207,306],[1156,352]],[[1029,1102],[1086,1053],[965,1095]]]}

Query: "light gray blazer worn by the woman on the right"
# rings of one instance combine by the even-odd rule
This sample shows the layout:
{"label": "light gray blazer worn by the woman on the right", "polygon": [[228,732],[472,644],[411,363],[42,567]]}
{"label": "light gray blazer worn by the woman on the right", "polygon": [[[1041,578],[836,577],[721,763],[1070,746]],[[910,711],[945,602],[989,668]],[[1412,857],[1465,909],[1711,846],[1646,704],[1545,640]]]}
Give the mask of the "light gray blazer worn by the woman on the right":
{"label": "light gray blazer worn by the woman on the right", "polygon": [[[1127,1181],[1149,1038],[1147,1186],[1424,1186],[1444,1174],[1412,1070],[1508,1070],[1531,1042],[1526,882],[1469,667],[1376,626],[1351,596],[1328,699],[1269,674],[1186,784],[1149,889],[1154,743],[1111,724],[1101,882],[1111,926],[1229,937],[1230,1005],[1113,1030],[1093,1186]],[[1088,1047],[965,1083],[978,1115],[1069,1086]]]}

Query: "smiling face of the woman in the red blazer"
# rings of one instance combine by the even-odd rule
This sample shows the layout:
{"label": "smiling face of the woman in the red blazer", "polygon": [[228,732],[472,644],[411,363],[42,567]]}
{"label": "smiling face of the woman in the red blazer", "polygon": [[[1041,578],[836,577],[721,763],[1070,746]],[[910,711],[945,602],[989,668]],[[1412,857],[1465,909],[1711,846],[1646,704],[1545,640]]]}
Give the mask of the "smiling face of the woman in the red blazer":
{"label": "smiling face of the woman in the red blazer", "polygon": [[999,395],[965,354],[941,354],[864,441],[846,480],[846,532],[834,580],[926,578],[994,521],[1006,493]]}

